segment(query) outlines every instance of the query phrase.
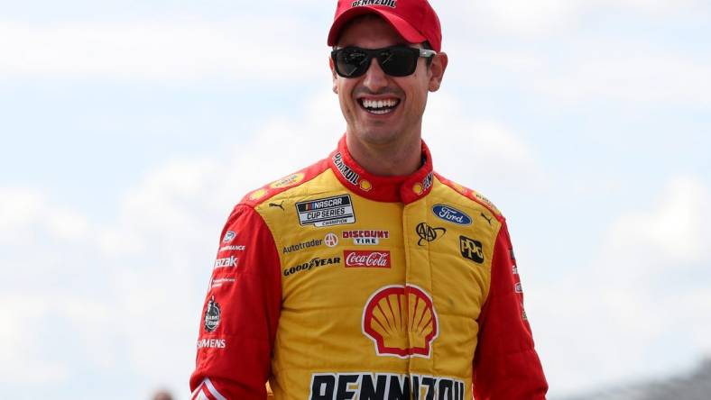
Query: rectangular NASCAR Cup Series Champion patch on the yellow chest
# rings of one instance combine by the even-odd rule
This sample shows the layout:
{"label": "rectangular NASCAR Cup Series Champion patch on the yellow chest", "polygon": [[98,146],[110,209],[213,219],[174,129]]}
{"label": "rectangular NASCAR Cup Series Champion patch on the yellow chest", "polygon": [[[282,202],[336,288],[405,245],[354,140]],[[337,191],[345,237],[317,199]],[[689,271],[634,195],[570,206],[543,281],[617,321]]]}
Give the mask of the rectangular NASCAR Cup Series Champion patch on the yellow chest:
{"label": "rectangular NASCAR Cup Series Champion patch on the yellow chest", "polygon": [[296,204],[296,211],[299,214],[299,223],[302,226],[313,225],[321,228],[356,223],[356,214],[353,212],[353,203],[350,195],[337,195],[300,202]]}

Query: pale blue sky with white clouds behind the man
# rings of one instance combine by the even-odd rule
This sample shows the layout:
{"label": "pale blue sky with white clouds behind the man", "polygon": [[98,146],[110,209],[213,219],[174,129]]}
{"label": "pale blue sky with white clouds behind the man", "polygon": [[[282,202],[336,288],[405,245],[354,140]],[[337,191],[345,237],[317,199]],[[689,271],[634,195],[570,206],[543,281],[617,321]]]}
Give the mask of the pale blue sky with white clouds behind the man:
{"label": "pale blue sky with white clouds behind the man", "polygon": [[[327,3],[0,0],[0,397],[188,398],[227,214],[345,130]],[[711,357],[711,3],[431,4],[423,137],[507,217],[549,398]]]}

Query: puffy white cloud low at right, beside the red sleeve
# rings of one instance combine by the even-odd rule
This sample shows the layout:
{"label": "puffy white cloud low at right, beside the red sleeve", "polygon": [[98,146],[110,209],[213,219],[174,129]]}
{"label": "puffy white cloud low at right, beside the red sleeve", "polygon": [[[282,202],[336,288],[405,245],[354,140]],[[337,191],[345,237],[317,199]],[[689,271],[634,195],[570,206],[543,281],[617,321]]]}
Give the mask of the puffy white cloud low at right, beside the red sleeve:
{"label": "puffy white cloud low at right, beside the red sleeve", "polygon": [[709,201],[699,177],[670,179],[619,214],[599,247],[581,243],[592,257],[559,261],[563,272],[527,295],[551,395],[669,375],[711,354]]}

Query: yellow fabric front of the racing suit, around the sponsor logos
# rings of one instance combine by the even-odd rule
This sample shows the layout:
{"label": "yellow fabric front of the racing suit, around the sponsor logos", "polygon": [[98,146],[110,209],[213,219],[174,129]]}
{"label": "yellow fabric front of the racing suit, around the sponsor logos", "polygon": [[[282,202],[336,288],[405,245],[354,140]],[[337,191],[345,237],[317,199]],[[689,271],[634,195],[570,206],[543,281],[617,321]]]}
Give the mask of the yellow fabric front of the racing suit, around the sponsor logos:
{"label": "yellow fabric front of the racing suit, around the sponsor logos", "polygon": [[[433,185],[429,195],[409,205],[375,202],[348,192],[327,169],[256,207],[282,262],[282,314],[272,358],[275,398],[308,398],[314,374],[339,372],[451,377],[464,382],[464,398],[471,398],[476,319],[489,290],[501,223],[439,180]],[[297,203],[337,195],[350,195],[355,223],[298,225]],[[435,205],[454,207],[472,223],[443,220],[434,214]],[[437,237],[421,238],[422,223]],[[387,232],[387,238],[356,244],[345,237],[350,231]],[[333,247],[329,234],[337,237]],[[481,242],[482,263],[462,256],[460,236]],[[346,254],[374,250],[389,252],[389,268],[346,267]],[[369,305],[372,313],[365,318]],[[435,326],[436,336],[427,341]],[[394,354],[415,348],[424,354]]]}

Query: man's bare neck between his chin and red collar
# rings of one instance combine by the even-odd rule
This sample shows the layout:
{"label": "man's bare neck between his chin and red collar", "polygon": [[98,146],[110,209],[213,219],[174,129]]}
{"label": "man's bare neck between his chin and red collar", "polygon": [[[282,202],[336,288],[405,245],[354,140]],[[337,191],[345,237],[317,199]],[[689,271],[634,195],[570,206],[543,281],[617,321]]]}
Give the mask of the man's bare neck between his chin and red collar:
{"label": "man's bare neck between his chin and red collar", "polygon": [[422,164],[422,143],[417,140],[369,143],[347,134],[348,152],[366,171],[382,177],[411,175]]}

